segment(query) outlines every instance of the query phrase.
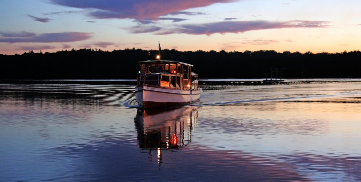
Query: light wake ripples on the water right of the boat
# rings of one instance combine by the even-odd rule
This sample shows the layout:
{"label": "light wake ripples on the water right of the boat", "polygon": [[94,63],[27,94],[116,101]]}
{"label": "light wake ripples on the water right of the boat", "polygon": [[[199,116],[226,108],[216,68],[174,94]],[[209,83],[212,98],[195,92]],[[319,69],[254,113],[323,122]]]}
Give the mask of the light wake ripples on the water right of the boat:
{"label": "light wake ripples on the water right of the boat", "polygon": [[[191,106],[237,105],[258,102],[342,102],[361,103],[360,88],[345,83],[236,86],[204,89],[200,102]],[[206,87],[207,88],[207,87]]]}

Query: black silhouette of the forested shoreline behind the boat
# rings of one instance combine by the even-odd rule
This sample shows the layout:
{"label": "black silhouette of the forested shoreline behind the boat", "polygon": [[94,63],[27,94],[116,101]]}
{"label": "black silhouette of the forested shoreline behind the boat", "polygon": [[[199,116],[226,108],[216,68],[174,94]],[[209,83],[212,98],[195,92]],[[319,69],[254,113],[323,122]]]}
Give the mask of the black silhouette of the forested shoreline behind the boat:
{"label": "black silhouette of the forested shoreline behind the boat", "polygon": [[[148,56],[150,52],[151,56]],[[72,49],[55,53],[0,55],[0,79],[135,79],[138,61],[154,60],[158,50],[112,52]],[[177,51],[162,60],[193,64],[200,78],[265,78],[267,68],[282,68],[283,78],[361,78],[361,52]]]}

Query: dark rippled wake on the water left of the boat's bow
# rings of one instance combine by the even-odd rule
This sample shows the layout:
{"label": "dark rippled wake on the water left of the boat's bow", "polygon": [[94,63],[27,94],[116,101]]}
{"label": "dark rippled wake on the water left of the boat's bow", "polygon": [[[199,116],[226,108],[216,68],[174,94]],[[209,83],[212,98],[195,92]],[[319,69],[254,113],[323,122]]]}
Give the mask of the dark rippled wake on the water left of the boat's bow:
{"label": "dark rippled wake on the water left of the boat's bow", "polygon": [[136,108],[133,85],[87,85],[87,84],[3,84],[0,96],[72,100],[88,104],[109,104]]}

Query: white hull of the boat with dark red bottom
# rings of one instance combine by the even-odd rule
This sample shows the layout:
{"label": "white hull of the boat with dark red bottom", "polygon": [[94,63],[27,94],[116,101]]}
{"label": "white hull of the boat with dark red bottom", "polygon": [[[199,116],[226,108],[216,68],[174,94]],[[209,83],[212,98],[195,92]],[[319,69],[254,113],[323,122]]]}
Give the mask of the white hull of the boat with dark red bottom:
{"label": "white hull of the boat with dark red bottom", "polygon": [[186,105],[199,100],[202,93],[199,90],[177,90],[152,86],[135,88],[136,100],[140,108],[172,107]]}

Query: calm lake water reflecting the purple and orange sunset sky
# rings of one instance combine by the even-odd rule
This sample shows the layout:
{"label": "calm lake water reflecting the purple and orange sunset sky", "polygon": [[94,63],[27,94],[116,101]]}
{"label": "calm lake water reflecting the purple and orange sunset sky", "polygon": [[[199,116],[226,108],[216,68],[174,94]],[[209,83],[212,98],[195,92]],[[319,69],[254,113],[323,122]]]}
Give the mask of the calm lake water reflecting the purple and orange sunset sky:
{"label": "calm lake water reflecting the purple and orange sunset sky", "polygon": [[361,181],[361,79],[255,81],[144,111],[130,81],[0,84],[0,181]]}

